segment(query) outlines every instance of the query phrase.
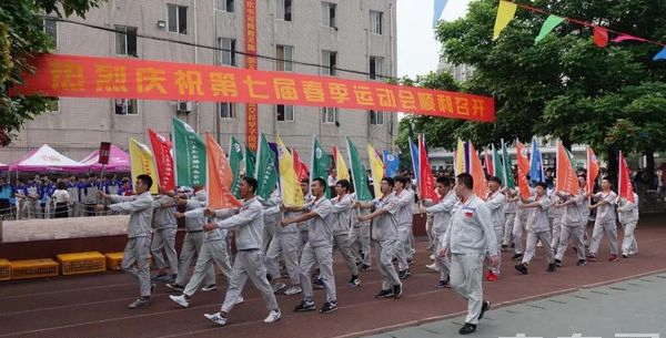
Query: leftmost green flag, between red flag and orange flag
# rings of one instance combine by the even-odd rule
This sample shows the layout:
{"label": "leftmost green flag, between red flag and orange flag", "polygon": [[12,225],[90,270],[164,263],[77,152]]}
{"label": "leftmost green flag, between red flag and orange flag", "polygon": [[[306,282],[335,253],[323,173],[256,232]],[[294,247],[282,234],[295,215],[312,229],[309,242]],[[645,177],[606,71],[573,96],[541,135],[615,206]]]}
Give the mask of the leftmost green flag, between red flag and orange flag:
{"label": "leftmost green flag, between red flag and orange flag", "polygon": [[173,117],[175,185],[205,185],[205,142],[192,127]]}

